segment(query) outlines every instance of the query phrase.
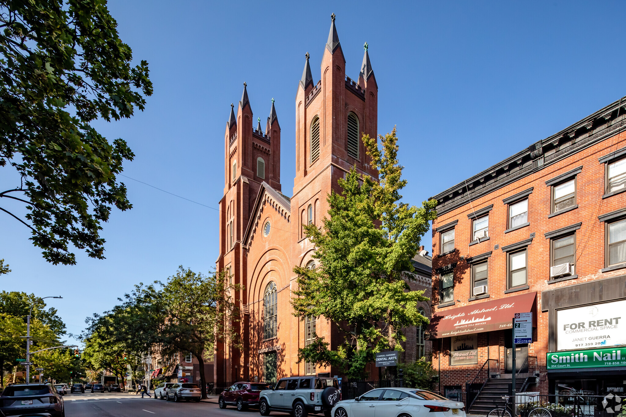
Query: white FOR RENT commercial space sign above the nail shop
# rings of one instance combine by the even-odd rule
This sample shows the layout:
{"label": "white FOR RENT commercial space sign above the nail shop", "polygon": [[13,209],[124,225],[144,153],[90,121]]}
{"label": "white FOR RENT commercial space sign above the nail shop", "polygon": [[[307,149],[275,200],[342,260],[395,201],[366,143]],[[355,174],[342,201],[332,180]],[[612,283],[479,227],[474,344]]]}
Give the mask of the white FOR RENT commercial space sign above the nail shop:
{"label": "white FOR RENT commercial space sign above the nail shop", "polygon": [[557,350],[626,344],[623,311],[626,299],[557,310]]}

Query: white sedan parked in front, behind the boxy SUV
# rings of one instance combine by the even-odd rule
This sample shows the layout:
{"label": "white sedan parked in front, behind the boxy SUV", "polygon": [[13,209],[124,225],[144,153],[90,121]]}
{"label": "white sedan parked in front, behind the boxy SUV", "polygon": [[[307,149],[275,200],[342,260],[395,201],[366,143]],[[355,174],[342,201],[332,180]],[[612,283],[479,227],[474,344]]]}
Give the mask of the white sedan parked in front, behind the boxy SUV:
{"label": "white sedan parked in front, behind the boxy SUV", "polygon": [[[339,401],[332,417],[465,417],[464,404],[416,388],[372,389]],[[436,414],[429,414],[436,413]]]}

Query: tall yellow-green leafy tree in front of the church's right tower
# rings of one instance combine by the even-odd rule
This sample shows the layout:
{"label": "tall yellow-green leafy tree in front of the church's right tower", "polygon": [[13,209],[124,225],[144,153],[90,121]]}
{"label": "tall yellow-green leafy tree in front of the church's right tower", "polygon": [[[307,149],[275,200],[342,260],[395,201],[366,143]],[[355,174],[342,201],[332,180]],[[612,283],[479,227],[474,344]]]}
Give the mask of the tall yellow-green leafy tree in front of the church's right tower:
{"label": "tall yellow-green leafy tree in front of the church's right tower", "polygon": [[[365,378],[365,367],[374,353],[401,350],[402,328],[427,324],[418,303],[423,291],[409,291],[406,271],[418,251],[429,221],[436,217],[436,201],[421,207],[401,203],[403,166],[398,163],[396,128],[376,139],[362,140],[379,182],[359,175],[355,168],[339,179],[341,194],[331,191],[329,217],[322,228],[305,227],[315,244],[317,269],[294,268],[299,288],[291,300],[294,315],[324,316],[344,330],[344,344],[330,351],[323,338],[299,349],[299,359],[341,366],[348,378]],[[355,346],[356,348],[352,348]]]}

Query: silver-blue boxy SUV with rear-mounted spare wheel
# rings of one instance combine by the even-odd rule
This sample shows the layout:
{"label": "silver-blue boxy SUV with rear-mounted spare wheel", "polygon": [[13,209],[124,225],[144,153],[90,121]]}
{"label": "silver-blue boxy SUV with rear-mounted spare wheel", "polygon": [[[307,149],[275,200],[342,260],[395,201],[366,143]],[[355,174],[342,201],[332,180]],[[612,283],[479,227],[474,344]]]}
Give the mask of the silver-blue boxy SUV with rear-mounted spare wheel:
{"label": "silver-blue boxy SUV with rear-mounted spare wheel", "polygon": [[331,415],[332,407],[341,399],[337,378],[292,376],[282,378],[272,389],[259,393],[259,413],[287,411],[294,417],[308,414]]}

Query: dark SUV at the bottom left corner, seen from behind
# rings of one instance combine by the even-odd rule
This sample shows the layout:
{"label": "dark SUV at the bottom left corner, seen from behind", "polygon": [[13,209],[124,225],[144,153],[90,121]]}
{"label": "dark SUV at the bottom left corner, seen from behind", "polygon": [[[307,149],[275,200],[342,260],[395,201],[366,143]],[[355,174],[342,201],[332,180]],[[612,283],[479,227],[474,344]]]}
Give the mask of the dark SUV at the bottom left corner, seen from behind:
{"label": "dark SUV at the bottom left corner, seen from behind", "polygon": [[4,388],[0,395],[0,415],[35,414],[64,416],[63,397],[52,384],[14,384]]}

